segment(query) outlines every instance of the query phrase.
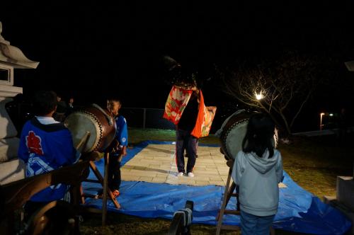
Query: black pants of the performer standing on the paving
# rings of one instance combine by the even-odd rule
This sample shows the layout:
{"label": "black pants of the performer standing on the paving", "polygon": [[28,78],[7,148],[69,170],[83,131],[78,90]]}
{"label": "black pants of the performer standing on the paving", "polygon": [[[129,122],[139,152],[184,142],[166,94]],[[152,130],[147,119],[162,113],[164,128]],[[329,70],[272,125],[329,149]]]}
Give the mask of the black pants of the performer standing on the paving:
{"label": "black pants of the performer standing on the paving", "polygon": [[188,154],[187,173],[192,172],[197,155],[198,139],[193,137],[190,132],[176,130],[176,163],[178,172],[185,172],[184,169],[184,149]]}

